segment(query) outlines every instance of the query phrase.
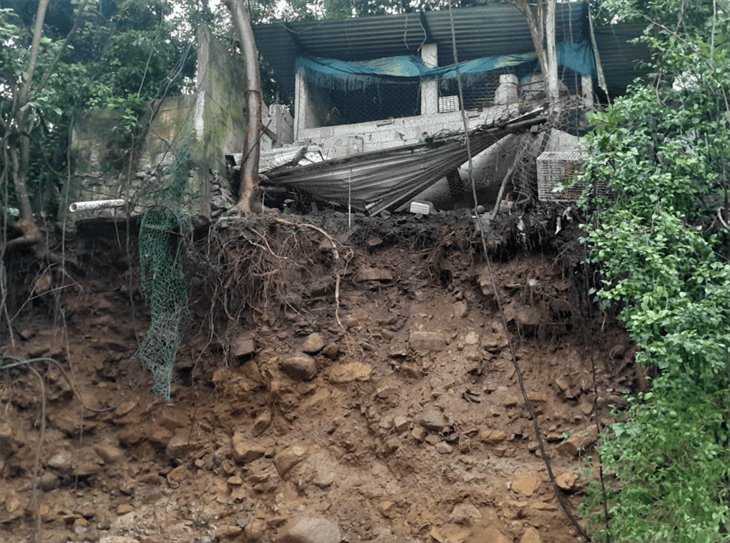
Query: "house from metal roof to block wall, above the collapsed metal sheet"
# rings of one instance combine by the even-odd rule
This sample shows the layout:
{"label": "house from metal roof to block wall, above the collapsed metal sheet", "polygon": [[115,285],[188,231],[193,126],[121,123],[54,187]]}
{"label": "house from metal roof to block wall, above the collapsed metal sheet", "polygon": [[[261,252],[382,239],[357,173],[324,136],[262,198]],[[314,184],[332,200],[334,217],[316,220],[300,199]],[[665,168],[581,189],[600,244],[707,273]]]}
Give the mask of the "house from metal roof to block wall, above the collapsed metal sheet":
{"label": "house from metal roof to block wall, above the collapsed metal sheet", "polygon": [[[542,76],[530,29],[514,6],[456,9],[453,23],[463,106],[473,126],[539,98]],[[272,23],[254,33],[282,98],[294,104],[294,140],[318,144],[326,158],[462,130],[446,10]],[[587,108],[605,71],[596,62],[597,39],[611,50],[606,56],[612,62],[617,45],[630,58],[642,56],[625,41],[598,36],[591,32],[587,2],[558,4],[560,79],[564,91],[581,96]],[[611,76],[615,68],[610,66]],[[630,61],[620,70],[631,78]]]}

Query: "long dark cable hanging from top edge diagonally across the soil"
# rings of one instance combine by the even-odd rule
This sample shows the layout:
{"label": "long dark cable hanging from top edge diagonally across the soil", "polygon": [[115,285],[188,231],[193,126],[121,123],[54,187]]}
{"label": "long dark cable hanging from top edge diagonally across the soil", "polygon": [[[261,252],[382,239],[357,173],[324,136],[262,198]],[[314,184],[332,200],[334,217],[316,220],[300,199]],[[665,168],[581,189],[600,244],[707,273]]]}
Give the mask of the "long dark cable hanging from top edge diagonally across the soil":
{"label": "long dark cable hanging from top edge diagonally across the soil", "polygon": [[461,71],[459,69],[459,57],[458,52],[456,48],[456,31],[454,30],[454,15],[452,11],[452,5],[451,1],[449,0],[449,23],[451,26],[451,46],[454,54],[454,64],[456,66],[456,82],[459,89],[459,108],[461,110],[461,120],[464,125],[464,138],[465,138],[465,144],[466,144],[466,154],[469,158],[469,167],[467,169],[467,175],[469,177],[469,181],[471,183],[471,190],[472,190],[472,197],[474,198],[474,215],[477,218],[477,226],[479,229],[479,235],[481,237],[482,241],[482,250],[484,251],[484,260],[487,264],[487,271],[489,273],[489,279],[492,285],[492,291],[494,292],[494,299],[497,303],[497,310],[499,313],[500,321],[502,324],[502,330],[505,336],[505,339],[507,340],[507,344],[509,346],[510,351],[510,357],[512,361],[512,366],[515,369],[515,375],[517,376],[517,382],[519,383],[520,387],[520,393],[522,394],[522,401],[525,405],[525,409],[527,409],[527,412],[530,415],[530,418],[532,419],[532,426],[535,431],[535,438],[537,440],[538,448],[540,449],[540,455],[542,457],[542,461],[545,464],[545,468],[548,472],[548,477],[550,478],[550,483],[553,487],[553,492],[555,494],[555,497],[558,500],[558,503],[560,504],[560,507],[563,509],[563,512],[565,513],[565,516],[568,517],[568,520],[573,525],[575,530],[578,532],[578,534],[585,539],[587,542],[591,541],[590,536],[586,533],[586,531],[583,529],[583,526],[580,525],[580,522],[576,518],[575,514],[570,510],[570,507],[565,500],[565,496],[560,491],[560,488],[558,487],[558,484],[555,480],[555,474],[553,473],[552,463],[550,462],[550,458],[548,457],[547,450],[545,448],[545,442],[542,437],[542,432],[540,431],[540,424],[537,420],[537,413],[535,412],[535,408],[532,406],[532,402],[530,402],[530,399],[527,397],[527,390],[525,389],[525,382],[522,375],[522,370],[520,369],[520,365],[517,361],[517,353],[515,352],[515,346],[512,341],[512,336],[509,333],[509,329],[507,328],[507,319],[504,316],[504,309],[502,305],[502,297],[499,294],[499,288],[497,286],[497,280],[494,275],[494,270],[492,268],[492,262],[489,258],[489,252],[487,249],[487,239],[486,235],[484,233],[484,225],[482,224],[481,218],[479,216],[479,212],[477,211],[477,207],[479,206],[479,202],[477,199],[477,189],[476,189],[476,183],[474,181],[474,164],[472,160],[471,155],[471,144],[469,142],[469,122],[466,117],[466,112],[464,111],[464,93],[461,83]]}

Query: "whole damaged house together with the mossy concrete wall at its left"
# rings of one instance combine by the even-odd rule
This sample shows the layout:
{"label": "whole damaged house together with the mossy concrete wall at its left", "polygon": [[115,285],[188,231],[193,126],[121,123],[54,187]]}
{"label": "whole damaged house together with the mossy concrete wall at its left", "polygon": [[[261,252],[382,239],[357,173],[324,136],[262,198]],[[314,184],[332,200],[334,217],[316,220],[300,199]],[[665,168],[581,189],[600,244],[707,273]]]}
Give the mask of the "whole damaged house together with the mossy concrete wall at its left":
{"label": "whole damaged house together with the mossy concrete wall at its left", "polygon": [[[562,93],[582,110],[621,94],[638,75],[636,61],[648,57],[645,48],[629,43],[640,26],[594,26],[588,2],[558,4],[556,19]],[[543,101],[524,16],[509,4],[455,9],[453,31],[458,66],[448,11],[256,26],[264,69],[280,93],[279,103],[265,108],[264,186],[369,213],[401,209],[416,197],[444,207],[466,203],[462,106],[469,130],[478,132],[474,177],[487,200],[521,149],[537,149],[528,157],[533,165],[542,152],[570,154],[565,167],[543,157],[540,171],[550,172],[553,184],[560,172],[573,171],[584,118],[571,117],[534,149],[529,136],[488,129]],[[74,218],[122,218],[159,205],[159,188],[181,145],[191,161],[183,210],[210,218],[229,208],[235,200],[229,174],[241,161],[243,108],[240,59],[201,29],[196,92],[151,105],[141,148],[120,148],[113,113],[88,112],[80,119],[69,201],[124,205]],[[494,145],[490,137],[497,133]],[[549,190],[540,194],[547,198]]]}

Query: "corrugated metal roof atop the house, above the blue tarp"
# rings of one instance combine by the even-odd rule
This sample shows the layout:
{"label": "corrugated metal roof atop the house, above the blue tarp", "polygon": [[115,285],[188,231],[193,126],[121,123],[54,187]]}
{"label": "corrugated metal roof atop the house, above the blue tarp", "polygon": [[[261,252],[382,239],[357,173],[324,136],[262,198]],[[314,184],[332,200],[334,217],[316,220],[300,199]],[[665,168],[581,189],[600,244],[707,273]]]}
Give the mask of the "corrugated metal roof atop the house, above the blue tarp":
{"label": "corrugated metal roof atop the house, above the blue tarp", "polygon": [[[522,13],[510,4],[460,8],[453,11],[459,60],[533,51]],[[583,2],[558,4],[557,38],[587,39],[587,7]],[[294,95],[297,56],[341,60],[370,60],[418,54],[426,42],[438,45],[439,64],[453,63],[451,26],[447,10],[423,14],[374,15],[350,19],[271,23],[254,27],[256,43],[277,82],[288,97]],[[625,40],[612,39],[603,28],[599,50],[606,79],[614,91],[633,78],[631,61],[637,50]],[[605,55],[605,58],[604,58]],[[625,57],[628,55],[628,59]],[[624,59],[624,60],[621,60]],[[615,92],[614,92],[615,93]]]}

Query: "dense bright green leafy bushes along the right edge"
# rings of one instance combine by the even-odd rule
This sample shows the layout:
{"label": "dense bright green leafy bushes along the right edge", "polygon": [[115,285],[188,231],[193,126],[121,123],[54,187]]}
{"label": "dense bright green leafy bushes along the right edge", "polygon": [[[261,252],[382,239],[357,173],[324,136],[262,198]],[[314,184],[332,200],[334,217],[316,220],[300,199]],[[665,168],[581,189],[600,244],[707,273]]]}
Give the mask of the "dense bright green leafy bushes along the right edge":
{"label": "dense bright green leafy bushes along the right edge", "polygon": [[[654,78],[594,116],[588,195],[598,298],[620,310],[656,375],[603,435],[610,539],[728,541],[730,481],[730,13],[711,2],[615,0],[609,18],[648,22]],[[609,533],[596,486],[584,504]]]}

